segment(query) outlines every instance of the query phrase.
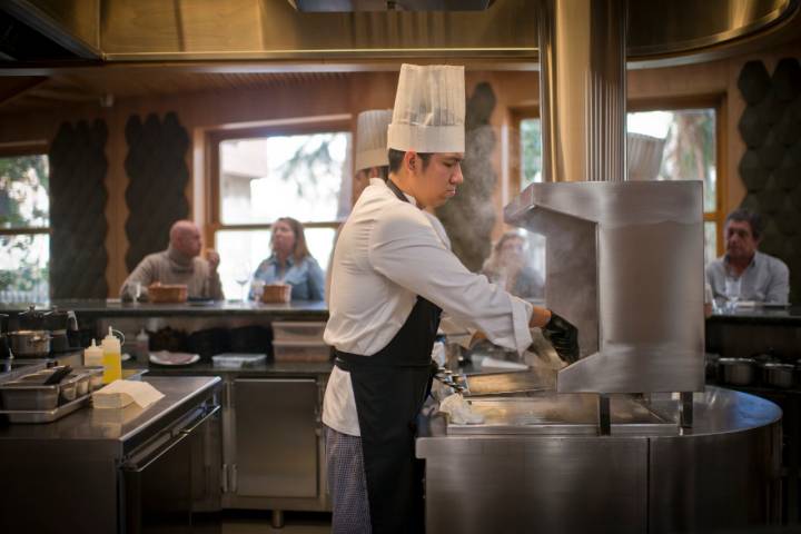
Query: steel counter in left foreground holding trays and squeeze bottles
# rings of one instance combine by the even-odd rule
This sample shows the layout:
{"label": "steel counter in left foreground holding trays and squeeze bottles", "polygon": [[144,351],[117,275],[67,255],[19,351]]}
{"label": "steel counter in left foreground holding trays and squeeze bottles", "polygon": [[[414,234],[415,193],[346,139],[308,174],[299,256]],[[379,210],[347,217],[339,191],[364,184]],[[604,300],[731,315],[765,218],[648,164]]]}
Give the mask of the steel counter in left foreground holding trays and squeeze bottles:
{"label": "steel counter in left foreground holding trays and squeeze bottles", "polygon": [[[0,426],[0,532],[180,532],[220,510],[219,377],[145,377],[141,409]],[[195,531],[192,531],[195,532]]]}

